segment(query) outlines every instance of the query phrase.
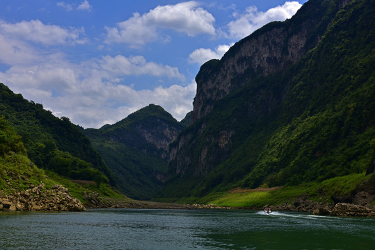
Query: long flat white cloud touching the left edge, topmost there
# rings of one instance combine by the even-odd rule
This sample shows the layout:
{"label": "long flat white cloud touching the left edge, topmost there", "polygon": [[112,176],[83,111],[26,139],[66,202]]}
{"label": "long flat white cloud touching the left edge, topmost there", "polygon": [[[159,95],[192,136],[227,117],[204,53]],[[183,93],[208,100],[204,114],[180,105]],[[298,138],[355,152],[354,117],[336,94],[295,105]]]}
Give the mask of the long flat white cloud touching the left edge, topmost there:
{"label": "long flat white cloud touching the left edge, topmost there", "polygon": [[58,25],[43,24],[38,19],[16,24],[0,22],[0,35],[44,45],[84,44],[87,40],[80,38],[81,34],[84,34],[83,28],[63,28]]}

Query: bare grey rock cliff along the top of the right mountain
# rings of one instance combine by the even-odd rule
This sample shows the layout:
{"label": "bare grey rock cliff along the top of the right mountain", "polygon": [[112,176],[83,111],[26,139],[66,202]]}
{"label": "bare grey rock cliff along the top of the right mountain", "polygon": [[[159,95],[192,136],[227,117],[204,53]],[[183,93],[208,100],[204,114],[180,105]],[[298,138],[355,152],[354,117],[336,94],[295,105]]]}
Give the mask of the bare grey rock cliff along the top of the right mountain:
{"label": "bare grey rock cliff along the top of the right mountain", "polygon": [[210,113],[214,101],[252,78],[285,71],[315,47],[329,24],[326,19],[332,19],[350,0],[335,1],[333,6],[327,2],[310,0],[292,19],[264,26],[234,44],[221,60],[202,65],[196,76],[193,122]]}

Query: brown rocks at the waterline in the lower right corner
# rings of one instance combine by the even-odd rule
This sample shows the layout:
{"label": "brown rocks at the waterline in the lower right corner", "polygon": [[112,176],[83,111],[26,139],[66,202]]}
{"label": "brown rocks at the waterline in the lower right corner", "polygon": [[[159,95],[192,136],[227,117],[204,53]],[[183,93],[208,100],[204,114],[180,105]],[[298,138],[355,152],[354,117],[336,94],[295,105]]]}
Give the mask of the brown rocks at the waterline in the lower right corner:
{"label": "brown rocks at the waterline in the lower right corner", "polygon": [[375,210],[351,203],[337,203],[330,215],[348,217],[374,217]]}

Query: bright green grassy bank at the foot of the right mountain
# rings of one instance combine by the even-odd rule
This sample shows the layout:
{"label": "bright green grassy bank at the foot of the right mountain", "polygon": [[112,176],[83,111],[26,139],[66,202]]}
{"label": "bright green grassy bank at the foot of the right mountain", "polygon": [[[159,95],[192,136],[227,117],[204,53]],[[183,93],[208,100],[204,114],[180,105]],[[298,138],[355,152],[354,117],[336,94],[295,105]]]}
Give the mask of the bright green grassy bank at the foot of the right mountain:
{"label": "bright green grassy bank at the foot of the right mountain", "polygon": [[[266,205],[280,205],[291,203],[296,198],[307,196],[312,201],[332,203],[333,194],[344,196],[350,194],[356,185],[370,178],[362,174],[330,178],[326,181],[303,183],[296,186],[277,188],[257,188],[253,190],[234,189],[226,192],[211,192],[205,197],[185,197],[177,203],[203,203],[214,206],[229,206],[236,208],[259,208]],[[164,200],[173,201],[173,200]],[[374,201],[373,201],[374,203]]]}

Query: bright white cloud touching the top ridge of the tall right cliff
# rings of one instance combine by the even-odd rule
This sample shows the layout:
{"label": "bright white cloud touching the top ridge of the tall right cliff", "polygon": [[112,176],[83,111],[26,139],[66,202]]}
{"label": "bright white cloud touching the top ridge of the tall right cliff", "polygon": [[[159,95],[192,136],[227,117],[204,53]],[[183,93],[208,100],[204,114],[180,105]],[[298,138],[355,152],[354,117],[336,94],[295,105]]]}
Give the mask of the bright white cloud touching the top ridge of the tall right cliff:
{"label": "bright white cloud touching the top ridge of the tall right cliff", "polygon": [[244,15],[234,13],[237,19],[228,24],[230,37],[244,38],[269,22],[284,21],[292,17],[301,6],[298,1],[287,1],[284,5],[271,8],[266,12],[259,12],[255,6],[251,6],[246,8]]}

